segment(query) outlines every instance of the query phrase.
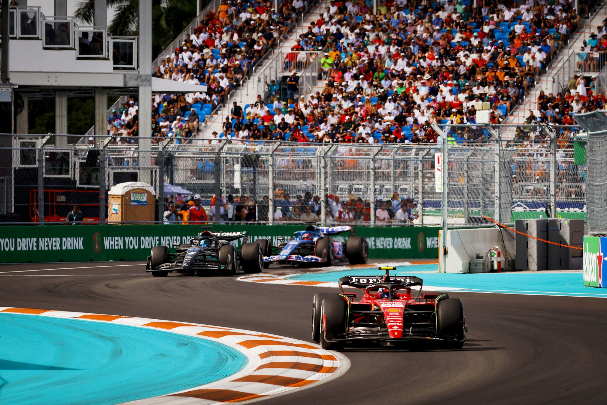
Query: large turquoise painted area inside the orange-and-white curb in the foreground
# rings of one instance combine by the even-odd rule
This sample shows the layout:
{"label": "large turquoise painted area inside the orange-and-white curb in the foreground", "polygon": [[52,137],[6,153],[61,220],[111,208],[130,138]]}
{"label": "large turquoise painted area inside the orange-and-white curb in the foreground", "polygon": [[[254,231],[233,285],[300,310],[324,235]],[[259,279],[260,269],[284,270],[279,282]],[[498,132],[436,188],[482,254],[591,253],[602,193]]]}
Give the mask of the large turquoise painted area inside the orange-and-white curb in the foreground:
{"label": "large turquoise painted area inside the orange-and-white curb in the foreground", "polygon": [[0,403],[117,404],[211,383],[248,359],[150,328],[0,313]]}

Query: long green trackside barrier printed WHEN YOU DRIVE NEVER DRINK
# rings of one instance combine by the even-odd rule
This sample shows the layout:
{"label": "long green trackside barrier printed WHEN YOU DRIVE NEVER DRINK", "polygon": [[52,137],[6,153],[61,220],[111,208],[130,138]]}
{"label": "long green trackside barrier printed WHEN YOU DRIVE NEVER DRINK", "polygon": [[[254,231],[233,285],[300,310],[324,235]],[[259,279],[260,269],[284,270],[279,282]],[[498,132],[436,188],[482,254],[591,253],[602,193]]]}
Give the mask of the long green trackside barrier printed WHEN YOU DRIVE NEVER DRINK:
{"label": "long green trackside barrier printed WHEN YOU DRIVE NEVER DRINK", "polygon": [[[249,240],[293,236],[302,225],[215,225],[212,231],[248,231]],[[358,227],[367,238],[370,259],[436,259],[438,227]],[[0,263],[145,260],[152,247],[188,243],[198,225],[0,226]],[[337,235],[345,241],[348,234]],[[174,252],[174,249],[171,250]]]}

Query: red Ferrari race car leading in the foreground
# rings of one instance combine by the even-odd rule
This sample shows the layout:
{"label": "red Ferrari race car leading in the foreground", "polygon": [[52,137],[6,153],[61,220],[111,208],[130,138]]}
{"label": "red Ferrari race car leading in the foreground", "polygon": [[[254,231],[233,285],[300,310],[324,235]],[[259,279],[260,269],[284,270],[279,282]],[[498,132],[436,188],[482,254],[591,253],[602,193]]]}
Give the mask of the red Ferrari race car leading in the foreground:
{"label": "red Ferrari race car leading in the foreground", "polygon": [[[346,342],[371,341],[383,346],[413,340],[434,341],[446,349],[461,349],[466,318],[461,299],[448,294],[412,297],[423,285],[414,276],[390,276],[395,267],[380,267],[385,275],[345,276],[341,293],[319,293],[312,304],[312,339],[323,349],[344,349]],[[362,296],[344,292],[360,288]]]}

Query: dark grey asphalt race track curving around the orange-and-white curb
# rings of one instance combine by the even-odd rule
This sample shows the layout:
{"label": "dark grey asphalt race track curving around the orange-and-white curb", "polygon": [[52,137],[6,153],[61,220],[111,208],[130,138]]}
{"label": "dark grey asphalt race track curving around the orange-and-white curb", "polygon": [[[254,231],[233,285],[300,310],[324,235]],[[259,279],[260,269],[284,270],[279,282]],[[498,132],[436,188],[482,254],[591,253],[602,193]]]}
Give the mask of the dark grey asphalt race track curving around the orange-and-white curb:
{"label": "dark grey asphalt race track curving around the orange-and-white curb", "polygon": [[[55,270],[45,270],[55,269]],[[134,262],[0,266],[0,305],[197,322],[310,341],[327,288],[145,274]],[[36,271],[37,270],[37,271]],[[607,301],[450,293],[463,350],[351,349],[345,375],[264,404],[607,403]]]}

